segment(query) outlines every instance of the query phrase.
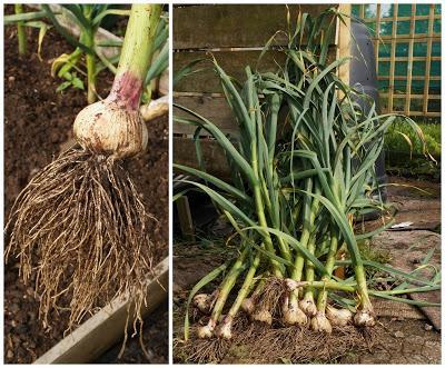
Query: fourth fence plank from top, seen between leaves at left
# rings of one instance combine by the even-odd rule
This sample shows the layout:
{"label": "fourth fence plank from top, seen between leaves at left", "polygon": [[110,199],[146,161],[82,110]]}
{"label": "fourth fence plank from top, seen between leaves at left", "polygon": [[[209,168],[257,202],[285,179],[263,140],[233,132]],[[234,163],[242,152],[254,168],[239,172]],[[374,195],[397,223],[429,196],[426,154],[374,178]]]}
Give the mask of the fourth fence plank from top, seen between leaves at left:
{"label": "fourth fence plank from top, seen between leaves at left", "polygon": [[[229,179],[230,169],[219,145],[214,140],[202,139],[201,149],[207,172],[218,178]],[[191,139],[174,137],[174,162],[199,169],[195,143]]]}

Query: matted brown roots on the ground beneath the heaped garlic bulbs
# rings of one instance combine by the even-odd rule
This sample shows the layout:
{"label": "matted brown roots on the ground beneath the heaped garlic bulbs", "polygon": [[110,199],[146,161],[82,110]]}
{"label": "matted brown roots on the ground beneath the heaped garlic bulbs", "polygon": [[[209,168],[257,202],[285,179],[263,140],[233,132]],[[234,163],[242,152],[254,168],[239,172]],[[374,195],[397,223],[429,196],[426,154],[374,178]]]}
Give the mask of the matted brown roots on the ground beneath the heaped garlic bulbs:
{"label": "matted brown roots on the ground beneath the heaped garlic bulbs", "polygon": [[229,341],[217,337],[199,339],[196,328],[191,328],[187,342],[176,341],[175,356],[195,364],[225,362],[226,358],[236,358],[243,364],[329,362],[349,351],[369,351],[378,336],[377,326],[362,329],[348,325],[325,334],[308,327],[246,324],[246,318],[237,318],[243,320],[238,324],[243,328],[236,328]]}

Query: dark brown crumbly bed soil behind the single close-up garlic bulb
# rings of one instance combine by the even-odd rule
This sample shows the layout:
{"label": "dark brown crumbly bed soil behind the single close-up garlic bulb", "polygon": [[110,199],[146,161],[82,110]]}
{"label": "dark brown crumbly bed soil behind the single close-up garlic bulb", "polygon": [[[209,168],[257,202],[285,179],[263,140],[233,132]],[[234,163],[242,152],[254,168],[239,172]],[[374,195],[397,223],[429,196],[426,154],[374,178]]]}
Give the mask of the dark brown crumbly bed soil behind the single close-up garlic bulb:
{"label": "dark brown crumbly bed soil behind the single close-up garlic bulb", "polygon": [[[6,13],[11,7],[6,7]],[[4,216],[31,177],[57,156],[72,138],[71,125],[87,105],[85,91],[69,88],[56,92],[61,80],[51,77],[51,62],[72,47],[50,30],[42,46],[42,61],[37,51],[38,30],[27,29],[29,54],[19,58],[16,28],[4,28]],[[112,82],[111,73],[101,72],[98,92],[105,97]],[[128,163],[147,209],[158,220],[150,229],[155,245],[155,265],[168,255],[168,119],[150,123],[149,151]],[[39,301],[33,280],[23,285],[17,265],[4,267],[4,362],[32,362],[63,337],[66,311],[52,311],[51,326],[37,319]],[[119,362],[168,361],[167,305],[159,307],[156,319],[145,324],[147,349],[130,347]],[[156,321],[156,324],[152,324]],[[162,330],[164,329],[164,330]],[[129,344],[130,346],[131,344]]]}

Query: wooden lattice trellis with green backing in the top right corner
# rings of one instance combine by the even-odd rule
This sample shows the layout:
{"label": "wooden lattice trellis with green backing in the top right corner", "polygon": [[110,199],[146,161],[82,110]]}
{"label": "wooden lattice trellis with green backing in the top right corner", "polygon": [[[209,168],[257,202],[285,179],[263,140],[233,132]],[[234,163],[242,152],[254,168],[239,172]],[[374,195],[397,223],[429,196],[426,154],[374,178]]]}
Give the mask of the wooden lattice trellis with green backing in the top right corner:
{"label": "wooden lattice trellis with green backing in the top right corner", "polygon": [[[406,7],[407,4],[405,4]],[[428,14],[416,14],[417,7],[428,7]],[[441,51],[433,56],[433,42],[441,44],[441,4],[416,4],[412,3],[411,16],[399,14],[399,4],[357,4],[355,14],[358,14],[366,24],[374,28],[374,47],[377,58],[377,78],[379,81],[380,105],[384,112],[403,112],[412,117],[439,117],[441,116],[441,69],[436,74],[432,74],[432,63],[441,66]],[[370,14],[365,8],[372,9]],[[382,7],[393,7],[389,16],[383,13]],[[370,17],[369,17],[370,16]],[[409,32],[400,34],[399,24],[409,22]],[[416,31],[419,22],[426,22],[426,32]],[[438,27],[435,27],[438,24]],[[383,29],[383,26],[385,29]],[[389,32],[390,29],[390,32]],[[389,34],[385,34],[389,33]],[[397,56],[396,50],[399,46],[407,44],[407,54]],[[415,54],[415,47],[426,44],[422,56]],[[389,48],[389,56],[382,56],[380,49]],[[388,74],[384,74],[378,68],[383,63],[389,63]],[[406,69],[400,68],[406,63]],[[413,74],[414,67],[424,63],[423,74]],[[397,73],[397,67],[404,74]],[[441,68],[441,67],[438,67]],[[382,69],[382,68],[380,68]],[[398,70],[399,70],[398,69]],[[421,84],[423,90],[413,92],[413,83]],[[433,88],[432,84],[435,84]],[[402,84],[402,88],[400,88]],[[406,86],[406,87],[405,87]]]}

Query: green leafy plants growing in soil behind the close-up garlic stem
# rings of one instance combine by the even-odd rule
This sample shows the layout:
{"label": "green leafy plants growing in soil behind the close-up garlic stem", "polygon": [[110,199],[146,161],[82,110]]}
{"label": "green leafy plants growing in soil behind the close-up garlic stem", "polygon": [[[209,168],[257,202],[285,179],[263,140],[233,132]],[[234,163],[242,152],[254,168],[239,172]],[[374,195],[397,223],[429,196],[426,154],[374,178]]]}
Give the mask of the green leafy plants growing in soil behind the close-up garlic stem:
{"label": "green leafy plants growing in soil behind the close-up garlic stem", "polygon": [[[41,33],[39,34],[40,51],[44,32],[50,27],[50,24],[47,24],[43,20],[50,20],[58,33],[76,48],[71,53],[62,53],[59,56],[51,66],[51,74],[66,80],[60,83],[57,90],[62,91],[69,87],[85,89],[83,80],[86,79],[88,103],[92,103],[98,97],[96,90],[98,73],[103,69],[109,69],[111,72],[116,73],[116,63],[119,60],[119,53],[108,59],[101,51],[101,48],[121,47],[122,44],[122,41],[98,42],[96,38],[97,32],[107,16],[128,16],[129,10],[113,9],[108,4],[61,4],[60,7],[61,13],[72,21],[80,30],[78,39],[71,36],[58,21],[57,16],[61,13],[51,10],[48,4],[42,4],[41,11],[6,16],[4,23],[11,24],[17,22],[18,24],[29,27],[41,27]],[[23,21],[27,22],[23,23]],[[148,71],[146,83],[149,83],[152,78],[158,77],[167,68],[167,38],[168,18],[164,17],[158,24],[155,48],[152,49],[152,52],[156,52],[158,49],[161,49],[161,52],[154,60]],[[151,96],[151,92],[149,95]],[[148,97],[146,96],[144,100],[147,101]]]}

